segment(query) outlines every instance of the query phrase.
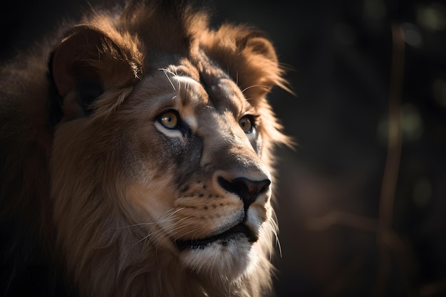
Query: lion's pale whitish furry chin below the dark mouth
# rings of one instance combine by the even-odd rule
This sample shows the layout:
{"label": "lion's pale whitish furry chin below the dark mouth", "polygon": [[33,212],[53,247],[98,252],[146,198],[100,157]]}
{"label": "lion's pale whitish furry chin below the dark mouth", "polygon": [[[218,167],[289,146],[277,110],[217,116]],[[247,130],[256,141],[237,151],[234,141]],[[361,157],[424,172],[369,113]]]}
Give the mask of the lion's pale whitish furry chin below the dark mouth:
{"label": "lion's pale whitish furry chin below the dark mouth", "polygon": [[255,266],[255,243],[244,233],[228,234],[180,251],[180,260],[202,278],[237,281]]}

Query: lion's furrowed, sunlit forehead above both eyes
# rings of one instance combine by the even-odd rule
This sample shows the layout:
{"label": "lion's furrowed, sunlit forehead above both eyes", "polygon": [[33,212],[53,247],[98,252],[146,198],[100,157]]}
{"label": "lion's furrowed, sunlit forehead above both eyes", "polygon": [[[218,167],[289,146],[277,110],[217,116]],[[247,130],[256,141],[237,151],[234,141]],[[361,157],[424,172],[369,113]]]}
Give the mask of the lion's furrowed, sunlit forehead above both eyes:
{"label": "lion's furrowed, sunlit forehead above both eyes", "polygon": [[212,71],[199,70],[190,63],[160,67],[142,79],[137,93],[150,113],[172,108],[192,126],[198,125],[199,119],[209,121],[209,116],[237,119],[254,110],[237,82],[214,66]]}

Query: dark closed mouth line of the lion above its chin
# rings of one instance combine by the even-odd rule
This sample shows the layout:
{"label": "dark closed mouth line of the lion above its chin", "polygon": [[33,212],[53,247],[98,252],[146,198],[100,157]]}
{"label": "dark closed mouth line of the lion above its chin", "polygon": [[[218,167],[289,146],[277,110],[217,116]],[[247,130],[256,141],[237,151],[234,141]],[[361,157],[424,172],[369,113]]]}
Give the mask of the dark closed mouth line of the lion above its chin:
{"label": "dark closed mouth line of the lion above its chin", "polygon": [[249,242],[255,242],[258,239],[247,225],[241,223],[214,236],[209,236],[204,239],[177,240],[175,241],[175,244],[180,251],[184,251],[185,249],[204,249],[219,240],[222,245],[227,245],[227,241],[235,239],[241,234],[246,236]]}

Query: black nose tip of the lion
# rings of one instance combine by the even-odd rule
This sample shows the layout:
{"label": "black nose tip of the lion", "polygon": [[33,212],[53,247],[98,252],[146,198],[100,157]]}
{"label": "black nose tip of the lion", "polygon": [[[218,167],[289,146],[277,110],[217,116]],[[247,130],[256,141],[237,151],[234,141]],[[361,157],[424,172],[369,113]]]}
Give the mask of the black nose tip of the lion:
{"label": "black nose tip of the lion", "polygon": [[227,192],[237,194],[242,199],[245,210],[254,202],[257,195],[266,192],[269,184],[271,184],[271,180],[269,179],[256,182],[245,177],[237,177],[230,182],[223,177],[218,177],[217,180],[223,189],[227,190]]}

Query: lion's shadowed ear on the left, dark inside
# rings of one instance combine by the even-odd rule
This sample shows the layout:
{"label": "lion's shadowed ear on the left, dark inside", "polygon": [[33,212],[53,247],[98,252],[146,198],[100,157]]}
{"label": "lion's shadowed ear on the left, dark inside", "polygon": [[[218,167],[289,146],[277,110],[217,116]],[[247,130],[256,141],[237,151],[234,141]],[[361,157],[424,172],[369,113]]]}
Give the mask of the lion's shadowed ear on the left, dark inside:
{"label": "lion's shadowed ear on the left, dark inside", "polygon": [[122,40],[110,37],[112,33],[88,25],[74,26],[57,46],[50,73],[61,105],[67,95],[74,94],[78,109],[89,115],[95,99],[106,90],[134,83],[138,66],[128,47],[120,44]]}

